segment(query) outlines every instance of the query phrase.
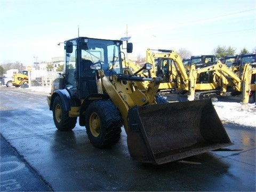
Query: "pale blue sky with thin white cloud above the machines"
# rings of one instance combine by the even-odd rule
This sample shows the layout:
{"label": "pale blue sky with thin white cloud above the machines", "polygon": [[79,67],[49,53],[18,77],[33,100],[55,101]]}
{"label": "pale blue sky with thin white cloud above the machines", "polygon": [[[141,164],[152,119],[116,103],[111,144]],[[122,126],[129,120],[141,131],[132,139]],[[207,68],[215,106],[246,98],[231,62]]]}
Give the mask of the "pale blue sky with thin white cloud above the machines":
{"label": "pale blue sky with thin white cloud above the machines", "polygon": [[18,1],[0,0],[0,65],[51,61],[59,42],[79,36],[119,39],[126,34],[133,56],[146,49],[185,48],[212,54],[218,46],[256,47],[256,1]]}

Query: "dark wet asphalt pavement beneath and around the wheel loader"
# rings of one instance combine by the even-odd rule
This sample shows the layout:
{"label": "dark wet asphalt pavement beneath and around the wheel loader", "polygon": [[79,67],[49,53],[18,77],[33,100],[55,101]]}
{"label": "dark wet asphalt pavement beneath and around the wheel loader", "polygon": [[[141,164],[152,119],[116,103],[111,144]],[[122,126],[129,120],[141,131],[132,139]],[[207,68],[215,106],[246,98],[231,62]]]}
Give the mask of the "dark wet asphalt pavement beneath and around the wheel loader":
{"label": "dark wet asphalt pavement beneath and around the wheel loader", "polygon": [[1,86],[0,102],[1,191],[255,191],[255,127],[224,125],[239,150],[149,165],[131,161],[123,129],[107,150],[78,123],[58,131],[46,93]]}

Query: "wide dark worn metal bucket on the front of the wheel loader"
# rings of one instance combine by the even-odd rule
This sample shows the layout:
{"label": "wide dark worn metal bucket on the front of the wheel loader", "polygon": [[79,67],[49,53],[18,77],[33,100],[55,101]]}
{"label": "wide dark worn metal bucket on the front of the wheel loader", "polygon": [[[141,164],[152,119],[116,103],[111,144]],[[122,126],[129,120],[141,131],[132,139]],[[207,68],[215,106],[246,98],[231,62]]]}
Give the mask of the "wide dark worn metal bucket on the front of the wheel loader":
{"label": "wide dark worn metal bucket on the front of the wheel loader", "polygon": [[233,145],[211,100],[134,106],[127,122],[137,162],[163,164]]}

